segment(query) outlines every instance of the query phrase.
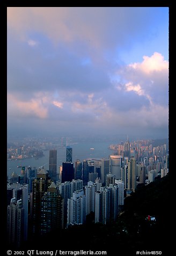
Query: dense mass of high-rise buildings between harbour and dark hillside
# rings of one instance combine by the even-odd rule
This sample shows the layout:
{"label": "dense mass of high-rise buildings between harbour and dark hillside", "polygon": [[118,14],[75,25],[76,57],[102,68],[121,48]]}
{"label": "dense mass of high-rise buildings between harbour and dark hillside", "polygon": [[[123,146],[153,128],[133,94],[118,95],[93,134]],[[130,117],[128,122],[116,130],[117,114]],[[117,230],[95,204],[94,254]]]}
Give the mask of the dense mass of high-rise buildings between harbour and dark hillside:
{"label": "dense mass of high-rise buildings between harbour and dark hillside", "polygon": [[72,147],[66,146],[62,166],[57,150],[50,149],[48,170],[22,166],[21,175],[13,172],[7,184],[8,243],[19,247],[29,236],[84,224],[92,213],[94,223],[112,223],[138,184],[148,186],[168,173],[166,144],[127,139],[109,148],[108,159],[72,162]]}

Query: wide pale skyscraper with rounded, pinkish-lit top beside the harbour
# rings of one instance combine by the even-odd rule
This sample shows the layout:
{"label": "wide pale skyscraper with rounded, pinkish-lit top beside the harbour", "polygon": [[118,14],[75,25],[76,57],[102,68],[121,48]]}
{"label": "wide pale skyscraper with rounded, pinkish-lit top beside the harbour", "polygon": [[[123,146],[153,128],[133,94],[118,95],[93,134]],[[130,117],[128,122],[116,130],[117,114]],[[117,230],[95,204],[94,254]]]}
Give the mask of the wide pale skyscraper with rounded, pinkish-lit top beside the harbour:
{"label": "wide pale skyscraper with rounded, pinkish-lit top beside the harbour", "polygon": [[121,155],[110,155],[109,158],[109,173],[115,174],[115,179],[121,180],[121,167],[122,167],[122,156]]}

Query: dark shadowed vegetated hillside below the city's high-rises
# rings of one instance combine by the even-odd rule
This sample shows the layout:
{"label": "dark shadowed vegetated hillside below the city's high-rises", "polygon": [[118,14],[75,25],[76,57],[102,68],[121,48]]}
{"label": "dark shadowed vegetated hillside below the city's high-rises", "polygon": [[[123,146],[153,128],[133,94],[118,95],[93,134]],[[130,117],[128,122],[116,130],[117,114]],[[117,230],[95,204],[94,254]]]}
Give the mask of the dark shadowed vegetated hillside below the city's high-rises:
{"label": "dark shadowed vegetated hillside below the city's high-rises", "polygon": [[[138,186],[127,197],[124,212],[111,224],[94,224],[93,216],[87,217],[85,225],[71,226],[46,236],[31,239],[28,244],[54,250],[106,250],[118,255],[136,255],[136,251],[162,251],[171,255],[170,248],[170,175],[157,179],[147,186]],[[156,221],[146,217],[155,216]],[[28,246],[24,244],[26,248]],[[127,254],[129,253],[129,254]]]}

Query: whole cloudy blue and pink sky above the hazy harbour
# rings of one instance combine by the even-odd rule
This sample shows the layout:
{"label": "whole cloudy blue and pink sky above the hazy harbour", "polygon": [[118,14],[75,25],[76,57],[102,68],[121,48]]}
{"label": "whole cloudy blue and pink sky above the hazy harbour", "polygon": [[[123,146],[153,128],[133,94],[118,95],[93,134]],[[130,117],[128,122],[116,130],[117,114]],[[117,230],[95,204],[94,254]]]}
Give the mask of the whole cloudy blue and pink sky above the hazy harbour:
{"label": "whole cloudy blue and pink sky above the hazy harbour", "polygon": [[8,7],[8,136],[168,137],[167,7]]}

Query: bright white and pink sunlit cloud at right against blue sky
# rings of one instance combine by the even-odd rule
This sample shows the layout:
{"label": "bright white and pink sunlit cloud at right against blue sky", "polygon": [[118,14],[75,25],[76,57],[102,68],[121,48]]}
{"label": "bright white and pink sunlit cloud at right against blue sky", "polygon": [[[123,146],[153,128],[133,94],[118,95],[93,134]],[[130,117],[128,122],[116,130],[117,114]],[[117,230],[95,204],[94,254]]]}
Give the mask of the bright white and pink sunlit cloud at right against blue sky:
{"label": "bright white and pink sunlit cloud at right against blue sky", "polygon": [[160,53],[143,56],[143,61],[130,63],[116,70],[120,77],[113,81],[117,90],[134,91],[150,104],[168,105],[168,61]]}

